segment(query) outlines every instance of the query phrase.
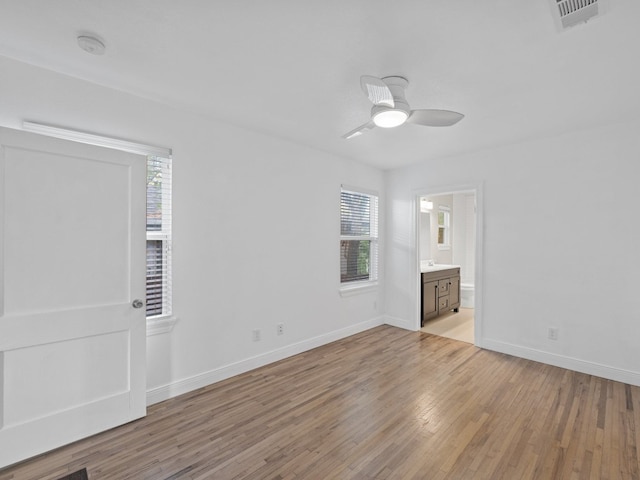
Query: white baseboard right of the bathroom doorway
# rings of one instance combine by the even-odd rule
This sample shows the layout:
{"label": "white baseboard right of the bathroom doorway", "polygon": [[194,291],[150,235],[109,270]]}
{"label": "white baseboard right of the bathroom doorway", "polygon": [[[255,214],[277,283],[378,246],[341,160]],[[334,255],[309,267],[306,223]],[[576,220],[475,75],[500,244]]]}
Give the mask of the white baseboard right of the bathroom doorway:
{"label": "white baseboard right of the bathroom doorway", "polygon": [[514,357],[526,358],[527,360],[533,360],[535,362],[546,363],[555,367],[566,368],[567,370],[573,370],[575,372],[586,373],[596,377],[640,386],[640,372],[632,372],[630,370],[623,370],[564,355],[544,352],[534,348],[522,347],[496,340],[488,340],[486,338],[482,340],[482,348],[492,350],[494,352],[506,353],[508,355],[513,355]]}

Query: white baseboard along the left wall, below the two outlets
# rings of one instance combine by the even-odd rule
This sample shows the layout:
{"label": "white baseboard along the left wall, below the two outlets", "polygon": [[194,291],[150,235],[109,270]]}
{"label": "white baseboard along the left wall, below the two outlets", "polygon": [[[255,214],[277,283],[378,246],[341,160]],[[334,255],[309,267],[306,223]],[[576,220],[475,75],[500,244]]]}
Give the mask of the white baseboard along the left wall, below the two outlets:
{"label": "white baseboard along the left wall, below the two outlets", "polygon": [[226,380],[227,378],[277,362],[278,360],[306,352],[307,350],[326,345],[327,343],[335,342],[336,340],[355,335],[356,333],[364,332],[365,330],[383,325],[384,323],[383,317],[373,318],[366,322],[361,322],[340,330],[335,330],[298,343],[287,345],[199,375],[194,375],[193,377],[152,388],[147,390],[147,405],[153,405],[154,403],[168,400],[169,398],[182,395],[183,393],[188,393],[198,388],[206,387],[212,383]]}

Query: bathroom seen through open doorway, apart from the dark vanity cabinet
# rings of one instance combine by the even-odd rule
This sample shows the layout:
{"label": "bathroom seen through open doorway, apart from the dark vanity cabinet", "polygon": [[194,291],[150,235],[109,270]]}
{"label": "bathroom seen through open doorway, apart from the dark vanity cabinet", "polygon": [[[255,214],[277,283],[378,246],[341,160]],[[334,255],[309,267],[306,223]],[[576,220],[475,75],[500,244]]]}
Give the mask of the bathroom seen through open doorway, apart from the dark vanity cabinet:
{"label": "bathroom seen through open doorway, apart from the dark vanity cabinet", "polygon": [[[476,190],[423,194],[417,203],[421,331],[476,344]],[[422,274],[447,268],[459,269],[459,304],[453,303],[450,308],[444,302],[437,315],[422,318]]]}

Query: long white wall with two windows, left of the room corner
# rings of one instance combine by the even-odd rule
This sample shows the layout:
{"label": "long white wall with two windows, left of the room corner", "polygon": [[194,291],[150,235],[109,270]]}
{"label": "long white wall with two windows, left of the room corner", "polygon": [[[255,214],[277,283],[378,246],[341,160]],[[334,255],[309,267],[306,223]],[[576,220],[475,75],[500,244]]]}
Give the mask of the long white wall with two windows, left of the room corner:
{"label": "long white wall with two windows, left of the room corner", "polygon": [[2,126],[173,148],[180,321],[148,338],[150,402],[381,323],[379,291],[338,293],[340,185],[377,190],[384,204],[381,171],[7,58],[0,72]]}

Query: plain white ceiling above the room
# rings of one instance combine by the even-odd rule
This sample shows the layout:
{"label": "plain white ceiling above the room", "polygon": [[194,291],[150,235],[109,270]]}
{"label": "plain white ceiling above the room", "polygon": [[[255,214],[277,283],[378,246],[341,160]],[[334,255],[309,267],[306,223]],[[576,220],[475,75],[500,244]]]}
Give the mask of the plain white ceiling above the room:
{"label": "plain white ceiling above the room", "polygon": [[[609,2],[558,32],[549,0],[0,0],[0,55],[391,169],[636,118],[640,2]],[[344,140],[362,74],[466,117]]]}

